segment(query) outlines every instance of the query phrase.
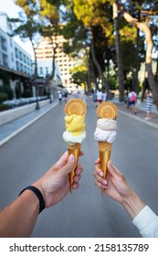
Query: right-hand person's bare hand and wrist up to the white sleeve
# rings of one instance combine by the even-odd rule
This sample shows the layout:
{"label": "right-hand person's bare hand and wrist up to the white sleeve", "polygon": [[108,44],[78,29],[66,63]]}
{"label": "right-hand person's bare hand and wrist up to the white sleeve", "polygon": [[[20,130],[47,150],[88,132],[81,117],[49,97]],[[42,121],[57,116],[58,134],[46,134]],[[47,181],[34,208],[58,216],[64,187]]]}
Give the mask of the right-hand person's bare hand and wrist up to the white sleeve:
{"label": "right-hand person's bare hand and wrist up to the white sleeve", "polygon": [[94,176],[96,177],[96,186],[103,188],[107,196],[121,203],[132,219],[134,219],[142,208],[145,207],[142,199],[132,190],[125,176],[111,164],[111,161],[108,162],[107,179],[103,178],[99,159],[95,162],[95,165]]}

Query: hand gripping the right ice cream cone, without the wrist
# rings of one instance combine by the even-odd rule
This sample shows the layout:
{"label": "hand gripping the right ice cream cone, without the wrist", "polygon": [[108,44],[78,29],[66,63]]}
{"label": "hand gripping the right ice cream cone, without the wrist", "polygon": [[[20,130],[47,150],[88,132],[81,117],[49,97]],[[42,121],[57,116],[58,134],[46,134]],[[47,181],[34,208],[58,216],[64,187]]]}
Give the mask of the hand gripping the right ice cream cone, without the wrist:
{"label": "hand gripping the right ice cream cone, without the wrist", "polygon": [[121,204],[124,204],[128,197],[132,197],[134,193],[132,188],[126,181],[125,176],[111,164],[111,161],[108,162],[107,179],[103,178],[103,172],[100,170],[100,159],[95,162],[95,165],[95,185],[103,188],[107,196]]}

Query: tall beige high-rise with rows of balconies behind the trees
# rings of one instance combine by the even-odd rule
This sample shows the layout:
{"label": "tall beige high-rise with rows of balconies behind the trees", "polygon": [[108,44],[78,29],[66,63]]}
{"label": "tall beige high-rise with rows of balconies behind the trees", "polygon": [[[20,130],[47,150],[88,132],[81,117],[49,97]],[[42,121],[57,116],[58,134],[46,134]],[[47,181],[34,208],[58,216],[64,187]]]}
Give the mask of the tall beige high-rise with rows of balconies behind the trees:
{"label": "tall beige high-rise with rows of balconies behind the trees", "polygon": [[[71,83],[71,75],[69,70],[75,64],[75,60],[69,58],[67,54],[63,51],[63,42],[66,41],[64,37],[57,36],[53,38],[56,48],[56,69],[60,70],[58,72],[58,77],[61,79],[61,84],[68,90],[73,91],[75,86]],[[53,46],[54,47],[54,46]],[[47,73],[52,71],[52,58],[53,58],[53,48],[50,41],[47,38],[42,38],[41,43],[37,48],[37,66],[38,66],[38,74],[40,76],[46,76]],[[49,63],[49,65],[48,65]]]}

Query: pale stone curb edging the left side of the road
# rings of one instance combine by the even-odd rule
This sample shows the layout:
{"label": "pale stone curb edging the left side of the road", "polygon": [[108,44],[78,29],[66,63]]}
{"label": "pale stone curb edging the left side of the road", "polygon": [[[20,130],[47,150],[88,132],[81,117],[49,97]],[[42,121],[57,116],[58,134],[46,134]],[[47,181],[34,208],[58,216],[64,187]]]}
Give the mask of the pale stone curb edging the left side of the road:
{"label": "pale stone curb edging the left side of the road", "polygon": [[51,111],[53,108],[55,108],[58,105],[58,102],[56,102],[52,107],[50,107],[46,112],[43,112],[41,114],[39,114],[36,118],[34,118],[33,120],[31,120],[30,122],[26,123],[25,125],[23,125],[21,128],[17,129],[16,132],[11,133],[9,136],[7,136],[4,140],[2,140],[0,142],[0,146],[2,146],[3,144],[7,143],[10,139],[12,139],[13,137],[16,136],[16,134],[21,133],[22,131],[24,131],[26,129],[26,127],[28,127],[29,125],[31,125],[32,123],[35,123],[39,118],[41,118],[42,116],[44,116],[47,112]]}

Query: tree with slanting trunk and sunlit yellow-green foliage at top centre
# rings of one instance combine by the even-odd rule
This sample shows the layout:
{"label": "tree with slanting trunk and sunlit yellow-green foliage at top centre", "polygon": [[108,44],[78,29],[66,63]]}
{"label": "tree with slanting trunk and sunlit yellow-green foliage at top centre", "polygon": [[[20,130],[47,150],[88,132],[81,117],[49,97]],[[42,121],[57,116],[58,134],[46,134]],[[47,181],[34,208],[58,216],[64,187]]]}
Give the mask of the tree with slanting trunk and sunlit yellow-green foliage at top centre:
{"label": "tree with slanting trunk and sunlit yellow-green foliage at top centre", "polygon": [[104,31],[106,37],[111,42],[112,38],[112,23],[111,16],[108,13],[111,13],[111,5],[109,5],[108,1],[81,1],[74,0],[74,12],[78,16],[79,20],[82,20],[85,27],[88,27],[90,30],[90,48],[91,48],[91,56],[93,62],[98,69],[100,74],[100,79],[102,80],[103,87],[109,94],[109,98],[111,98],[110,87],[108,81],[105,79],[103,71],[100,67],[100,62],[96,57],[95,52],[95,38],[94,38],[94,27],[100,26]]}

